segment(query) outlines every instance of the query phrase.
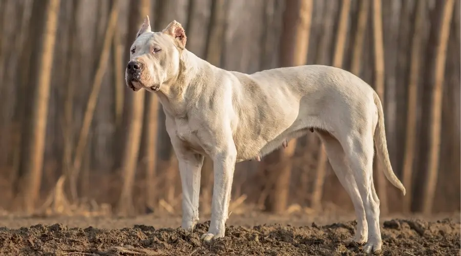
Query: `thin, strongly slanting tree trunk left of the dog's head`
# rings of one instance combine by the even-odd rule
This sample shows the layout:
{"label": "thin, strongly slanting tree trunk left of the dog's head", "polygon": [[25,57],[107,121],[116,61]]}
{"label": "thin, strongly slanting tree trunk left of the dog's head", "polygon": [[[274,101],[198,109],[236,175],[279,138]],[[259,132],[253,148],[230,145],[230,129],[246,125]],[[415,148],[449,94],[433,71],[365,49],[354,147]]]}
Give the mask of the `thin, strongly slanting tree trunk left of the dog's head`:
{"label": "thin, strongly slanting tree trunk left of the dog's head", "polygon": [[80,135],[78,137],[77,147],[75,148],[75,157],[72,165],[72,174],[71,174],[71,195],[72,201],[75,202],[78,199],[77,194],[77,179],[78,173],[80,172],[81,162],[83,159],[83,154],[85,153],[85,148],[88,142],[88,133],[90,131],[91,121],[93,120],[94,110],[96,108],[96,103],[101,89],[102,78],[106,72],[108,65],[110,46],[112,41],[112,36],[115,31],[118,18],[118,0],[113,0],[110,19],[107,23],[106,32],[104,34],[104,40],[102,45],[102,50],[98,59],[98,68],[93,79],[92,89],[90,97],[87,102],[87,109],[85,111],[85,116],[83,116],[83,123],[80,129]]}

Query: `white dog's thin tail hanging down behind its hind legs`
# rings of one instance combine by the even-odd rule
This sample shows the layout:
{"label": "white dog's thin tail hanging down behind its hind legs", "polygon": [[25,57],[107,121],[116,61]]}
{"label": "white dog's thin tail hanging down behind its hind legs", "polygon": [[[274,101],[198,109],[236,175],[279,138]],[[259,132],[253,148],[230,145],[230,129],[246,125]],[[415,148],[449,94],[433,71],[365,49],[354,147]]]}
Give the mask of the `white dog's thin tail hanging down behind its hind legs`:
{"label": "white dog's thin tail hanging down behind its hind legs", "polygon": [[397,178],[392,170],[392,166],[389,160],[389,153],[387,151],[386,132],[384,129],[384,113],[381,100],[373,91],[373,100],[376,108],[378,109],[378,124],[376,124],[376,130],[374,131],[374,143],[376,145],[376,153],[378,158],[381,159],[381,163],[384,165],[384,175],[396,188],[402,190],[405,196],[406,190],[402,182]]}

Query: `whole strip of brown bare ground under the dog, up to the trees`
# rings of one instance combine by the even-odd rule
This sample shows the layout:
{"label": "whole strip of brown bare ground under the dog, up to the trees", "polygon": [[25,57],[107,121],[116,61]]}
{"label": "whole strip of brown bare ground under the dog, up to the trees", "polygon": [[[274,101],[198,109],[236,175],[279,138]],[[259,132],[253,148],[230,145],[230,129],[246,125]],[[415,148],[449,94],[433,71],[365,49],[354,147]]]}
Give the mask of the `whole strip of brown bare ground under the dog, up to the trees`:
{"label": "whole strip of brown bare ground under the dog, up to the trees", "polygon": [[[179,227],[180,216],[18,217],[0,219],[2,255],[363,255],[346,242],[355,221],[347,214],[276,216],[251,211],[231,215],[226,237],[200,242],[209,224],[194,232]],[[379,255],[460,255],[459,213],[387,216],[381,219]],[[2,227],[3,226],[3,227]]]}

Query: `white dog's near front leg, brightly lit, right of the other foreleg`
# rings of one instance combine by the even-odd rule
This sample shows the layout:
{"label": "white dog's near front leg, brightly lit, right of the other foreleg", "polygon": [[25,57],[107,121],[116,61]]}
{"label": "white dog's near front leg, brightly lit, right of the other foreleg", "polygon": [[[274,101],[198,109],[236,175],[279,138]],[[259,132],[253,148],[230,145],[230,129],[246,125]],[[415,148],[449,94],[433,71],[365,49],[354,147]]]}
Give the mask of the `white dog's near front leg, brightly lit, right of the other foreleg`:
{"label": "white dog's near front leg, brightly lit, right of the other foreleg", "polygon": [[228,217],[231,200],[232,180],[234,178],[237,151],[235,145],[215,155],[213,161],[214,184],[212,199],[212,216],[208,232],[201,239],[210,242],[212,239],[224,237],[225,222]]}

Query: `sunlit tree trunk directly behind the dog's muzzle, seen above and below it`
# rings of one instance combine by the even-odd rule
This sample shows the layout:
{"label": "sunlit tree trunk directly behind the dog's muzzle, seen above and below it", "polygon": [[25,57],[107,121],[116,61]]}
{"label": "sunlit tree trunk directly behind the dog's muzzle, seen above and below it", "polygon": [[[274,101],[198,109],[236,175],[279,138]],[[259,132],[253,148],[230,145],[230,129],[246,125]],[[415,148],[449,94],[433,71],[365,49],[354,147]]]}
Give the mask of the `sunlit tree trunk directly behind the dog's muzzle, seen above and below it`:
{"label": "sunlit tree trunk directly behind the dog's muzzle, seen above and below it", "polygon": [[[130,17],[129,17],[129,33],[127,35],[126,46],[131,46],[136,37],[136,33],[141,26],[146,15],[150,14],[150,0],[136,1],[132,0],[130,3]],[[128,52],[128,51],[127,51]],[[128,56],[128,54],[127,54]],[[125,63],[129,61],[125,59]],[[128,136],[126,137],[127,143],[124,147],[124,155],[122,159],[122,191],[120,200],[118,202],[118,214],[122,216],[134,214],[133,207],[133,184],[135,179],[139,145],[142,134],[142,119],[144,115],[144,94],[145,90],[131,93],[132,110],[129,121]]]}

